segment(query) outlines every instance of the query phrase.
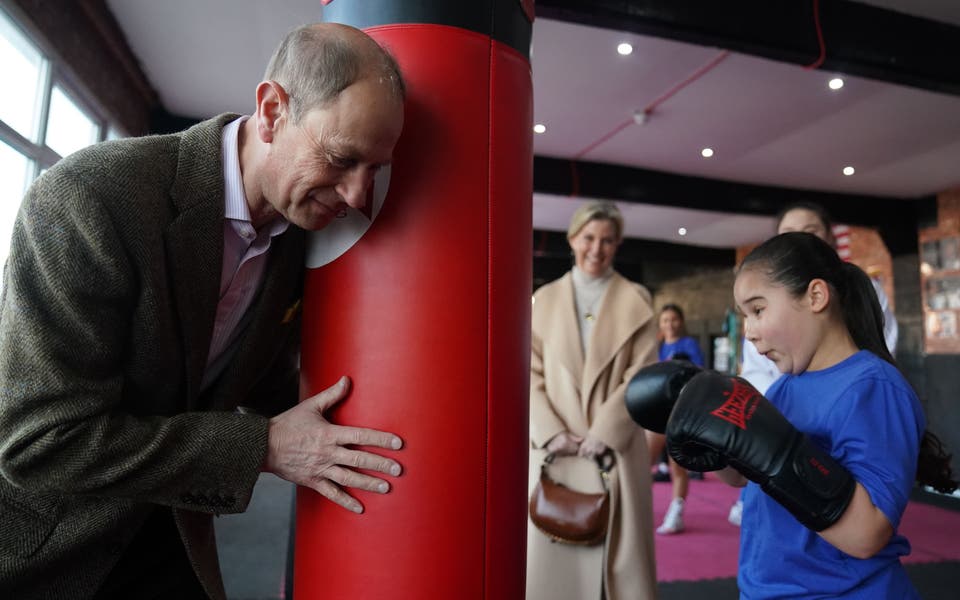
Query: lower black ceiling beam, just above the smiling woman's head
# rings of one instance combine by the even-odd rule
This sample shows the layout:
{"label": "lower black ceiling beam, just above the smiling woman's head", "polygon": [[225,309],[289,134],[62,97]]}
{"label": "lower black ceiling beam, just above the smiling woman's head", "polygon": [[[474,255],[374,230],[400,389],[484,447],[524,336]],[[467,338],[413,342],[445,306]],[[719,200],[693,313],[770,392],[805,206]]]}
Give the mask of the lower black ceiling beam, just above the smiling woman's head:
{"label": "lower black ceiling beam, just above the smiling woman's head", "polygon": [[894,255],[917,252],[917,226],[931,201],[735,183],[544,156],[533,159],[533,189],[558,196],[768,216],[796,202],[815,202],[838,223],[877,229]]}

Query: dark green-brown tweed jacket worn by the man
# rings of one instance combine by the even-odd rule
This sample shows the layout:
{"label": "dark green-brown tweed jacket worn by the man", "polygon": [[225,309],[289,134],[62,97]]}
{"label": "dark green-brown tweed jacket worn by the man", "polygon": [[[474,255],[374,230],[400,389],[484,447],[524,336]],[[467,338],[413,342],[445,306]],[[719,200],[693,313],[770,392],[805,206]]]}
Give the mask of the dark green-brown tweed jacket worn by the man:
{"label": "dark green-brown tweed jacket worn by the man", "polygon": [[89,597],[156,506],[224,597],[211,515],[245,510],[267,415],[296,402],[304,247],[293,225],[273,239],[229,365],[201,393],[235,117],[92,146],[24,198],[0,301],[2,598]]}

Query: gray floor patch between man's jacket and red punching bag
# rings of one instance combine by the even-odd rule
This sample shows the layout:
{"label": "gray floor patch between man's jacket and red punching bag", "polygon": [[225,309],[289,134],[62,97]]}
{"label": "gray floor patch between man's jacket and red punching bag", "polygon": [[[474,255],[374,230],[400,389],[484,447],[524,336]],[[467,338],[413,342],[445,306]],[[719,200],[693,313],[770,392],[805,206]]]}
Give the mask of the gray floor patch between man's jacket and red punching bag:
{"label": "gray floor patch between man's jacket and red punching bag", "polygon": [[215,519],[230,600],[283,600],[294,486],[264,473],[245,513]]}

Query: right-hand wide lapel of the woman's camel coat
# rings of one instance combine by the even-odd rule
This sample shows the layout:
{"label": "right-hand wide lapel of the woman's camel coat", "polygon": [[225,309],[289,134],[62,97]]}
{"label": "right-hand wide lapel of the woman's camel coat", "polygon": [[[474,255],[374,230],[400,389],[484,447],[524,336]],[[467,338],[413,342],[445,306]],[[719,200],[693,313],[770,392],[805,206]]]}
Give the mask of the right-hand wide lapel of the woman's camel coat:
{"label": "right-hand wide lapel of the woman's camel coat", "polygon": [[627,340],[653,317],[653,311],[634,289],[633,284],[614,272],[603,296],[599,315],[593,326],[593,336],[587,347],[583,370],[583,385],[580,389],[584,402],[593,393],[593,386],[603,370]]}

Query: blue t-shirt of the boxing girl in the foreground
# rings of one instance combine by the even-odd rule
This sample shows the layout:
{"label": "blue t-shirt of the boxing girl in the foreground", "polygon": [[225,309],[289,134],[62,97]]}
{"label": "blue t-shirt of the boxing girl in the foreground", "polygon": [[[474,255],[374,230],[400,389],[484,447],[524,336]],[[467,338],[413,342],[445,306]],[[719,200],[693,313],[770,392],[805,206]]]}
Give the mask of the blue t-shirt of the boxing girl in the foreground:
{"label": "blue t-shirt of the boxing girl in the foreground", "polygon": [[900,564],[910,544],[896,530],[913,488],[926,422],[903,376],[860,351],[821,371],[784,375],[767,390],[767,398],[853,474],[890,520],[894,535],[875,556],[854,558],[748,483],[740,530],[740,597],[919,598]]}

